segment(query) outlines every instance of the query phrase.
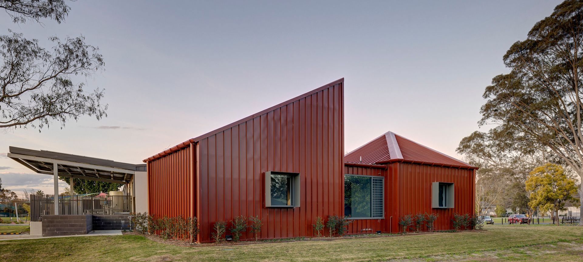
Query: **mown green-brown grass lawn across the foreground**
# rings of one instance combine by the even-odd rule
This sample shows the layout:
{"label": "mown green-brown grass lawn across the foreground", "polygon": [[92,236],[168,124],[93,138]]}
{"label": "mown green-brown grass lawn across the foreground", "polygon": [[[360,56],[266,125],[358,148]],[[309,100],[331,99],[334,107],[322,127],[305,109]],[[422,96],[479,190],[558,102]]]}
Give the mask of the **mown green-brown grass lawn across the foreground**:
{"label": "mown green-brown grass lawn across the foreground", "polygon": [[581,261],[583,227],[487,225],[434,233],[182,247],[138,235],[0,241],[0,261]]}

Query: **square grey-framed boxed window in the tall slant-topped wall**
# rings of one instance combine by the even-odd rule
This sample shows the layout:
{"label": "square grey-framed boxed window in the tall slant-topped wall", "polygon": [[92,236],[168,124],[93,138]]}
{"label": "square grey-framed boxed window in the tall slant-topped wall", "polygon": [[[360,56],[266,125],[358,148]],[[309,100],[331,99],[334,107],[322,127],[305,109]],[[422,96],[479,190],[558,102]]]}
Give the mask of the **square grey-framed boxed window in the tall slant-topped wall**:
{"label": "square grey-framed boxed window in the tall slant-topped wall", "polygon": [[299,207],[300,174],[265,172],[265,207]]}

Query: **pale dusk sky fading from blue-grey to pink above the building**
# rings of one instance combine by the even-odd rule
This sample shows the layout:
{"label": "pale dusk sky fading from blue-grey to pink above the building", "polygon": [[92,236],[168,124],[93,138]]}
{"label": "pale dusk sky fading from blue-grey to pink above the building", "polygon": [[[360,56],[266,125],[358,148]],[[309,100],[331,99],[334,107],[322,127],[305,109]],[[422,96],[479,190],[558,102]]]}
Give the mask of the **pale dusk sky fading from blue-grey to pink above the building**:
{"label": "pale dusk sky fading from blue-grey to pink above the building", "polygon": [[347,152],[393,131],[461,158],[484,88],[508,72],[502,56],[560,2],[79,0],[60,25],[0,12],[0,34],[99,47],[106,67],[86,89],[105,89],[109,105],[101,121],[3,132],[0,177],[48,193],[52,177],[6,158],[8,146],[142,163],[339,78]]}

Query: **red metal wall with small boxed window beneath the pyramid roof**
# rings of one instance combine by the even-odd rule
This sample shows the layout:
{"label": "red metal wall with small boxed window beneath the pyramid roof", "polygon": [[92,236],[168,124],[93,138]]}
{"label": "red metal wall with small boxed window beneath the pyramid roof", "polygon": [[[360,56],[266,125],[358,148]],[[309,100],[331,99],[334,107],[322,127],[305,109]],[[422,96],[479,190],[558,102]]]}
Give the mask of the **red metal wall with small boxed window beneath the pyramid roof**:
{"label": "red metal wall with small boxed window beneath the pyramid roof", "polygon": [[[439,214],[436,230],[452,229],[454,213],[475,214],[475,170],[412,163],[391,163],[388,168],[392,199],[387,208],[389,216],[393,216],[393,232],[398,228],[398,218],[406,214]],[[454,208],[431,208],[433,182],[454,183]]]}

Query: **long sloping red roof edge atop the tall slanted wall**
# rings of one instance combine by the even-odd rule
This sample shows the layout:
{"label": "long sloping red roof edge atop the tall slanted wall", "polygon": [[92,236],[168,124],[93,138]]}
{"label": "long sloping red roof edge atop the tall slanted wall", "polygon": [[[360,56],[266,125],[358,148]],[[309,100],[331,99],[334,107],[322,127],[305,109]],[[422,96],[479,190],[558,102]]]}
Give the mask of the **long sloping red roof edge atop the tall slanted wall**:
{"label": "long sloping red roof edge atop the tall slanted wall", "polygon": [[198,141],[201,141],[202,139],[205,139],[205,138],[210,137],[211,135],[217,134],[219,132],[222,132],[224,130],[227,130],[227,129],[229,129],[231,127],[234,127],[236,125],[239,125],[241,123],[245,123],[245,122],[247,122],[247,121],[249,121],[249,120],[251,120],[251,119],[253,119],[255,117],[258,117],[258,116],[261,116],[262,114],[268,113],[269,111],[278,109],[279,107],[285,106],[286,104],[290,104],[290,103],[296,102],[297,100],[303,99],[304,97],[313,95],[315,93],[320,92],[321,90],[324,90],[326,88],[330,88],[331,86],[335,86],[335,85],[338,85],[339,83],[343,83],[343,82],[344,82],[344,78],[340,78],[340,79],[338,79],[338,80],[336,80],[334,82],[328,83],[328,84],[323,85],[323,86],[321,86],[321,87],[319,87],[317,89],[311,90],[310,92],[304,93],[303,95],[296,96],[296,97],[294,97],[294,98],[292,98],[290,100],[287,100],[286,102],[282,102],[282,103],[276,104],[275,106],[269,107],[268,109],[265,109],[263,111],[260,111],[259,113],[252,114],[251,116],[245,117],[245,118],[243,118],[241,120],[238,120],[238,121],[235,121],[235,122],[233,122],[231,124],[225,125],[224,127],[217,128],[216,130],[210,131],[210,132],[208,132],[206,134],[199,135],[198,137],[188,139],[187,141],[184,141],[184,142],[182,142],[182,143],[180,143],[178,145],[175,145],[175,146],[173,146],[170,149],[166,149],[165,151],[162,151],[160,153],[157,153],[156,155],[153,155],[153,156],[150,156],[149,158],[144,159],[143,162],[146,163],[148,161],[153,161],[153,160],[156,160],[156,159],[159,159],[159,158],[163,158],[166,155],[170,155],[171,153],[174,153],[174,152],[176,152],[176,151],[178,151],[180,149],[187,148],[190,144],[194,144],[194,143],[196,143]]}

